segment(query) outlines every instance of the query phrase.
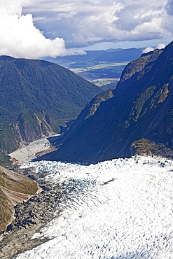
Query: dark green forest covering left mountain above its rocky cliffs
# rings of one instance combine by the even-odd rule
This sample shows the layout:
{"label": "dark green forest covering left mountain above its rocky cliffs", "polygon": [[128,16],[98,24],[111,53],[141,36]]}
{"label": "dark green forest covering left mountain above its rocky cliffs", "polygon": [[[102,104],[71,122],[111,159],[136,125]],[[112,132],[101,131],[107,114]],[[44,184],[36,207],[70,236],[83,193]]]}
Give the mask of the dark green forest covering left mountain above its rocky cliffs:
{"label": "dark green forest covering left mountain above its rocky cliffs", "polygon": [[99,92],[95,85],[50,62],[2,56],[0,65],[0,121],[4,124],[27,110],[46,111],[56,121],[69,120]]}

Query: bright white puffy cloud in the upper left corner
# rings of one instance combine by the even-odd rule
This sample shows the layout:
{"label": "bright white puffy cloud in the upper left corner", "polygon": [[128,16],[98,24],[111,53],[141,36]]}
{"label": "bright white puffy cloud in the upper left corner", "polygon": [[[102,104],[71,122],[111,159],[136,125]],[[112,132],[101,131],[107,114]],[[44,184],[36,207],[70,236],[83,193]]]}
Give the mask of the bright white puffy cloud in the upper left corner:
{"label": "bright white puffy cloud in the upper left corner", "polygon": [[0,55],[40,58],[66,55],[63,38],[43,36],[34,26],[32,14],[22,15],[22,7],[33,1],[0,0]]}

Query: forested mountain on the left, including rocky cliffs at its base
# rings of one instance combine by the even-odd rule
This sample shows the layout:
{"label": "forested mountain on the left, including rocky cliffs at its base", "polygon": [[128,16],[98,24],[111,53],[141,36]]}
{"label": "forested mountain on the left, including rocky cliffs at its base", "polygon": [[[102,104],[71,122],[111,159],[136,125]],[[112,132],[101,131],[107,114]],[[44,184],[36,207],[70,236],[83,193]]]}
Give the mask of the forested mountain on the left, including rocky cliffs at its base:
{"label": "forested mountain on the left, including rocky cliffs at its base", "polygon": [[43,60],[0,57],[0,152],[60,132],[99,87]]}

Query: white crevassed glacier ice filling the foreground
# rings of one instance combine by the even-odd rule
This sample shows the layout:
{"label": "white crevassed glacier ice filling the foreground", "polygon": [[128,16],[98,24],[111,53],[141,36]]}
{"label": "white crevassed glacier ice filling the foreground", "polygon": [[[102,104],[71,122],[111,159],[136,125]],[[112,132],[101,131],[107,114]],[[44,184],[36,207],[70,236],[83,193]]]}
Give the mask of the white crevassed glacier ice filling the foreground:
{"label": "white crevassed glacier ice filling the foreground", "polygon": [[30,162],[69,190],[60,216],[35,233],[50,238],[18,259],[172,259],[173,161],[136,156],[77,165]]}

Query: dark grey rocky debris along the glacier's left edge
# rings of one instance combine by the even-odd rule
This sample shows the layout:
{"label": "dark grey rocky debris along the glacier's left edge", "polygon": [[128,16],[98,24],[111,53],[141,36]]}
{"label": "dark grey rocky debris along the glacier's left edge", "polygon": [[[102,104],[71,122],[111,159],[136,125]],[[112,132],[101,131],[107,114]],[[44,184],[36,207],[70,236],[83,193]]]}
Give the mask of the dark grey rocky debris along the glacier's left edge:
{"label": "dark grey rocky debris along the glacier's left edge", "polygon": [[50,174],[49,171],[36,173],[33,168],[19,169],[18,166],[13,166],[11,169],[16,175],[18,172],[21,177],[27,179],[27,176],[29,176],[31,181],[32,179],[36,180],[40,191],[29,200],[20,202],[14,207],[14,220],[8,225],[6,231],[0,232],[0,258],[3,259],[12,259],[18,253],[48,241],[47,238],[31,239],[31,237],[60,214],[64,209],[63,202],[68,201],[71,195],[73,197],[76,195],[76,193],[74,195],[74,186],[65,188],[58,181],[54,183],[46,181],[44,177]]}

